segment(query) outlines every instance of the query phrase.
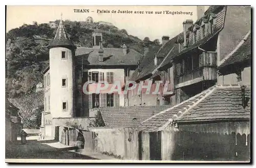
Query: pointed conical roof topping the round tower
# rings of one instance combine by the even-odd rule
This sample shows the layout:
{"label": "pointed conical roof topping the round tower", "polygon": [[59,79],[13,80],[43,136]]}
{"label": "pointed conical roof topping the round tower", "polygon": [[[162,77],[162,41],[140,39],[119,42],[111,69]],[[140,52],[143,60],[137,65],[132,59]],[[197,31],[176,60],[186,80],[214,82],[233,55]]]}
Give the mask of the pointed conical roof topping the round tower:
{"label": "pointed conical roof topping the round tower", "polygon": [[47,48],[49,49],[53,47],[67,47],[67,48],[76,49],[76,46],[73,44],[73,42],[70,40],[68,36],[68,33],[65,29],[62,19],[59,22],[59,26],[54,39],[47,46]]}

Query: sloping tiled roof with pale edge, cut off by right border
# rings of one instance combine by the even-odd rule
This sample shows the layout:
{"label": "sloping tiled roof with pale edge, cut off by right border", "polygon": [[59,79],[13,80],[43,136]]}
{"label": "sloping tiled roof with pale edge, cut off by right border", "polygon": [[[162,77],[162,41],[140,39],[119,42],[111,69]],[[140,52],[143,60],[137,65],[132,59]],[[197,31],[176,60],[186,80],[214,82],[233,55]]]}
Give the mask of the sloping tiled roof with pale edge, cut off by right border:
{"label": "sloping tiled roof with pale edge, cut off by right border", "polygon": [[240,44],[223,59],[218,69],[251,59],[251,32],[248,32]]}

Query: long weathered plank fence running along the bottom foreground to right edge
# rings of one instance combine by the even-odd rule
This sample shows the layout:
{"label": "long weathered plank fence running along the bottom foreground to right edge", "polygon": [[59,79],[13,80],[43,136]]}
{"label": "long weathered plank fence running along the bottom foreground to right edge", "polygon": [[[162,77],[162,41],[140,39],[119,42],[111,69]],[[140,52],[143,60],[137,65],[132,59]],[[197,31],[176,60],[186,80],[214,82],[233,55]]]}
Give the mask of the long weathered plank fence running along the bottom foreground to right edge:
{"label": "long weathered plank fence running along the bottom foreground to right edge", "polygon": [[[75,146],[78,131],[61,129],[60,142]],[[81,131],[84,150],[109,153],[129,160],[247,161],[250,134],[191,131],[137,132],[128,128]]]}

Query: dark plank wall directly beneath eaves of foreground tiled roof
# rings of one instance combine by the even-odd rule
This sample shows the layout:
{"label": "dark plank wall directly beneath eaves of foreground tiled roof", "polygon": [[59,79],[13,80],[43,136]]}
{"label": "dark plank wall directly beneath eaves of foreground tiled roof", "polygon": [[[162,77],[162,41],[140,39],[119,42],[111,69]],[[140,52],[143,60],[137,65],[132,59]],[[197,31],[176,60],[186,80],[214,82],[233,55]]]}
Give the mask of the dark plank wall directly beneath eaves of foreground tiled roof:
{"label": "dark plank wall directly beneath eaves of foreground tiled roof", "polygon": [[[150,132],[151,160],[249,160],[250,135],[196,133],[188,131]],[[161,151],[159,153],[159,151]],[[145,153],[145,151],[144,151]],[[148,158],[148,156],[147,156]]]}

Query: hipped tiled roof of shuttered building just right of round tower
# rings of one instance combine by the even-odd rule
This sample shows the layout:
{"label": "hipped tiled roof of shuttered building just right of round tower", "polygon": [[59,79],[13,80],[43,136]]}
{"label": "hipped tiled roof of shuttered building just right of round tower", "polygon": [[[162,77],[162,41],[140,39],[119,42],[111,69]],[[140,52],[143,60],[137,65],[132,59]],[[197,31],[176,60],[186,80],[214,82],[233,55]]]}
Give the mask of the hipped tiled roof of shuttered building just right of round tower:
{"label": "hipped tiled roof of shuttered building just right of round tower", "polygon": [[78,47],[76,63],[81,64],[83,61],[84,65],[137,65],[142,56],[133,49],[124,54],[122,48],[103,48],[103,62],[100,62],[98,51],[99,49]]}

